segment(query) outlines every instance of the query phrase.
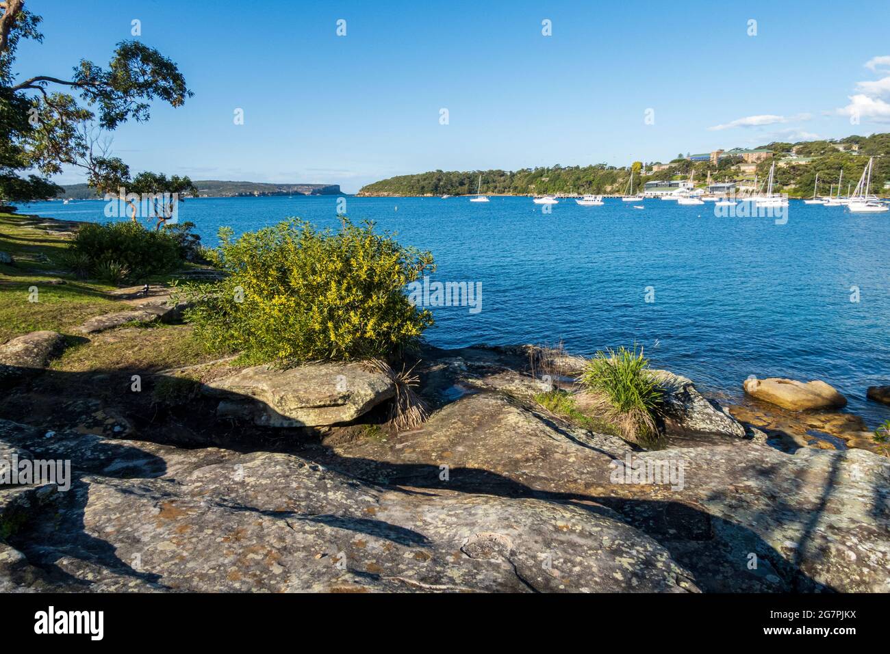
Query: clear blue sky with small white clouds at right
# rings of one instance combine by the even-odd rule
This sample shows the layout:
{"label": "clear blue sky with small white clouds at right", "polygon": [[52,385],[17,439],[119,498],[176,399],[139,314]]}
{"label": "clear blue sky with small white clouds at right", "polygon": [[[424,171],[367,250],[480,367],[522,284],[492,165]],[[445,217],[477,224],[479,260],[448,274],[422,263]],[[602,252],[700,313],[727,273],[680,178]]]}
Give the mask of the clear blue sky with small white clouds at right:
{"label": "clear blue sky with small white clouds at right", "polygon": [[21,44],[16,70],[104,65],[141,20],[136,38],[195,96],[117,130],[134,172],[347,192],[437,168],[621,166],[890,131],[886,0],[253,4],[28,0],[45,39]]}

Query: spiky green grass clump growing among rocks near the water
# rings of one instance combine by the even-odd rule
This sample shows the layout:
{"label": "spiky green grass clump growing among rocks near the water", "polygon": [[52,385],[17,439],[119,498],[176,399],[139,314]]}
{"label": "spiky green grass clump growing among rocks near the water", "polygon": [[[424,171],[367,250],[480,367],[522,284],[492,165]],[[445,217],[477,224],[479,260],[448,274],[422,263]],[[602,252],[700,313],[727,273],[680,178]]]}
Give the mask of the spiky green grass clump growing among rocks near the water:
{"label": "spiky green grass clump growing among rocks near the water", "polygon": [[642,347],[639,351],[634,345],[632,350],[622,346],[617,351],[596,352],[578,382],[603,415],[618,425],[625,439],[643,446],[658,442],[663,392],[651,375]]}

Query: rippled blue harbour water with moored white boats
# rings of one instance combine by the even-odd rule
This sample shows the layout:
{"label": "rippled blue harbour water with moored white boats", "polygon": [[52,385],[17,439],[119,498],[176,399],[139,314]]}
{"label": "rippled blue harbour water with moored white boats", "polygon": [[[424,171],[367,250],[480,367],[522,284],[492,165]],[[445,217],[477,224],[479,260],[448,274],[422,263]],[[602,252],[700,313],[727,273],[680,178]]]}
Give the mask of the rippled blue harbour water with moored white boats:
{"label": "rippled blue harbour water with moored white boats", "polygon": [[[299,216],[336,227],[336,197],[199,198],[180,206],[207,245],[216,230],[255,230]],[[530,198],[346,198],[353,221],[374,220],[433,252],[433,279],[479,281],[482,310],[434,309],[428,339],[554,343],[579,354],[641,343],[653,365],[700,388],[740,397],[748,375],[822,379],[874,426],[890,409],[865,400],[890,384],[890,218],[792,201],[787,224],[718,218],[714,207],[645,200],[643,210]],[[640,203],[635,203],[640,204]],[[21,206],[101,221],[104,203]],[[653,303],[645,302],[654,287]],[[859,287],[860,302],[851,302]]]}

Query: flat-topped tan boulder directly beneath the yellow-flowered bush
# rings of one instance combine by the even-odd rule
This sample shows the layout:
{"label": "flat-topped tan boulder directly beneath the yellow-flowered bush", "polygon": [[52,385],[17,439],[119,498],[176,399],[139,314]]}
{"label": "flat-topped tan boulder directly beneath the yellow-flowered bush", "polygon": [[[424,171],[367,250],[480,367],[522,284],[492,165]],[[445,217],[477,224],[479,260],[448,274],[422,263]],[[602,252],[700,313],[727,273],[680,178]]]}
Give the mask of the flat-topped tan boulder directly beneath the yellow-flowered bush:
{"label": "flat-topped tan boulder directly beneath the yellow-flowered bush", "polygon": [[285,370],[248,367],[206,382],[202,392],[222,400],[218,416],[263,427],[318,427],[355,420],[392,398],[395,385],[357,364],[323,363]]}

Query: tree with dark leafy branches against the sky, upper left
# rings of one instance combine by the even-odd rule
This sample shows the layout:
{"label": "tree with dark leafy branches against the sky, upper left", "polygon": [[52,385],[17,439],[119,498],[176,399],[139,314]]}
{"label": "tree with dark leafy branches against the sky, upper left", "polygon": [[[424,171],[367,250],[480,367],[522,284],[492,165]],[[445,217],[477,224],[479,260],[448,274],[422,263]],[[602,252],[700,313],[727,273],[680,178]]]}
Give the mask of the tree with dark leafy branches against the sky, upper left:
{"label": "tree with dark leafy branches against the sky, upper left", "polygon": [[42,18],[25,4],[0,0],[0,198],[53,197],[60,187],[47,177],[63,166],[83,171],[98,192],[116,191],[130,181],[129,169],[109,156],[97,133],[147,121],[152,101],[181,107],[192,95],[185,78],[174,61],[129,40],[117,44],[105,68],[80,60],[67,77],[19,79],[13,68],[20,41],[44,38]]}

